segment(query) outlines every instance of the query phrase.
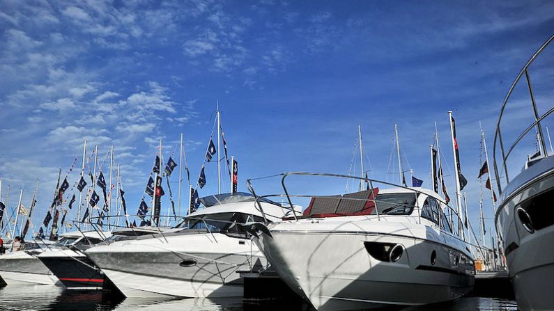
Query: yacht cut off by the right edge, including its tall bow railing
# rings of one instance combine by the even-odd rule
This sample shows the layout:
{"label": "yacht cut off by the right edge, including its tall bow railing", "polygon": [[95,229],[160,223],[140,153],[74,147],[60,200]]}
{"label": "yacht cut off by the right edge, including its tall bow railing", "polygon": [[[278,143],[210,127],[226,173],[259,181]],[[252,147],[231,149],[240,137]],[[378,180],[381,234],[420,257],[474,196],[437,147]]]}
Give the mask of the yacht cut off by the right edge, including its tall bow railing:
{"label": "yacht cut off by the right edge, including its tall bow railing", "polygon": [[[553,113],[554,108],[551,102],[537,102],[533,95],[533,90],[540,88],[541,83],[534,80],[531,84],[530,72],[537,72],[541,67],[533,67],[529,70],[539,54],[544,55],[541,52],[553,39],[554,35],[530,58],[509,88],[495,132],[494,167],[498,182],[497,189],[500,193],[495,223],[501,235],[509,278],[520,310],[554,310],[554,248],[552,247],[554,244],[554,209],[552,209],[554,154],[548,154],[544,135],[544,125],[547,124],[547,117]],[[549,52],[550,58],[546,58],[547,60],[551,60],[553,55],[552,49]],[[545,66],[548,70],[548,64]],[[525,79],[521,79],[523,76]],[[539,77],[541,77],[540,74]],[[520,80],[523,82],[518,84]],[[520,86],[519,89],[523,86],[528,90],[527,98],[512,96],[513,90],[518,86]],[[542,86],[551,88],[548,83]],[[523,104],[528,102],[527,115],[534,118],[534,122],[527,128],[521,127],[521,122],[514,120],[511,115],[509,118],[504,118],[509,119],[508,122],[502,118],[508,114],[507,109],[511,108],[516,109],[519,118],[523,117],[525,109],[522,109],[522,102]],[[510,106],[509,103],[512,105]],[[540,106],[537,108],[539,104],[543,104],[542,108],[546,109],[546,113],[539,114],[541,111]],[[547,106],[545,107],[544,104]],[[501,121],[505,121],[502,131]],[[507,134],[513,136],[513,131],[516,130],[518,130],[516,135],[519,136],[516,136],[518,137],[516,141],[509,145]],[[528,133],[532,137],[532,143],[525,144],[523,137]],[[521,152],[513,152],[521,150],[521,147],[524,152],[537,151],[534,150],[537,146],[534,145],[535,142],[538,145],[538,152],[528,156],[521,171],[514,174],[516,165],[521,167],[524,161],[509,161],[509,156],[521,154]],[[518,149],[514,149],[516,147]],[[497,159],[500,159],[498,163],[500,165],[497,164]],[[514,165],[515,163],[517,164]],[[509,178],[514,175],[516,176],[513,179]]]}

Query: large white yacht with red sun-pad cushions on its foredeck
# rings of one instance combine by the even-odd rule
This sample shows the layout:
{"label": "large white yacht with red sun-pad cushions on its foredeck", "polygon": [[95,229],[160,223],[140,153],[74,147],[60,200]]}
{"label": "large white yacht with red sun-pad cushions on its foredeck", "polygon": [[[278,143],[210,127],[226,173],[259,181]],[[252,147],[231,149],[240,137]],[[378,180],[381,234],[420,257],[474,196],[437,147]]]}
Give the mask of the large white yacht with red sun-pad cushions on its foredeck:
{"label": "large white yacht with red sun-pad cushions on its foredeck", "polygon": [[[364,190],[291,194],[285,186],[291,175],[354,178]],[[267,226],[250,224],[248,231],[272,268],[317,310],[423,305],[472,289],[470,245],[463,240],[456,212],[437,193],[346,175],[282,176],[284,194],[257,198],[278,196],[289,206],[303,199],[309,206],[302,216]]]}

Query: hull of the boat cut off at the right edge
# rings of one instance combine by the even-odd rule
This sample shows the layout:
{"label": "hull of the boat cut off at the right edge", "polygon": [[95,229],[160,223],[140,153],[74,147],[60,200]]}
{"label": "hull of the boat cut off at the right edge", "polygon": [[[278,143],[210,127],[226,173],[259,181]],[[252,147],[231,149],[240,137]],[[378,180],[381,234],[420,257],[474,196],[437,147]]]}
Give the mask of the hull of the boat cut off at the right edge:
{"label": "hull of the boat cut off at the right edge", "polygon": [[[552,166],[551,158],[544,164]],[[539,169],[540,164],[536,164]],[[554,221],[551,202],[554,199],[554,171],[546,170],[534,179],[528,168],[509,186],[515,189],[502,200],[496,225],[502,234],[509,278],[521,310],[554,309]],[[525,182],[518,181],[525,180]],[[508,188],[510,189],[510,188]],[[523,226],[518,208],[524,207],[534,225],[534,232]],[[540,224],[540,225],[539,225]]]}

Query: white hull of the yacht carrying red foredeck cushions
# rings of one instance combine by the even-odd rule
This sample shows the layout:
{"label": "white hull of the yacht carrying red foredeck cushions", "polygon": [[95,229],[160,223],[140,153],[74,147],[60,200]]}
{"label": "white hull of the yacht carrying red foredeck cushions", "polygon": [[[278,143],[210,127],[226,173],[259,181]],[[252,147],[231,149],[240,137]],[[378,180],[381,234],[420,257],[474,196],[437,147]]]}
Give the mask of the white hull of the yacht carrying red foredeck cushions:
{"label": "white hull of the yacht carrying red foredeck cushions", "polygon": [[[270,233],[272,237],[263,234],[257,240],[263,253],[279,276],[317,310],[449,301],[470,292],[475,281],[470,257],[437,241],[359,228],[318,232],[279,230],[275,225]],[[398,262],[377,260],[365,246],[373,242],[400,244],[403,255]],[[457,265],[456,257],[461,258]]]}

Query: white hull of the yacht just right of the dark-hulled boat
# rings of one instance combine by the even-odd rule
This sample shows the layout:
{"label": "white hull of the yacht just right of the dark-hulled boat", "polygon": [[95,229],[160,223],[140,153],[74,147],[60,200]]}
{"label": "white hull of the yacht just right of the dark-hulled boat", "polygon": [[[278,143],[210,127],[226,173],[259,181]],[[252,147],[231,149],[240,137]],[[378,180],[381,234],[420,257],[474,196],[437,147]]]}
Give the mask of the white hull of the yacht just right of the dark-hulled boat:
{"label": "white hull of the yacht just right of the dark-hulled boat", "polygon": [[86,255],[127,297],[242,296],[237,271],[266,263],[252,241],[224,234],[125,241],[91,248]]}

